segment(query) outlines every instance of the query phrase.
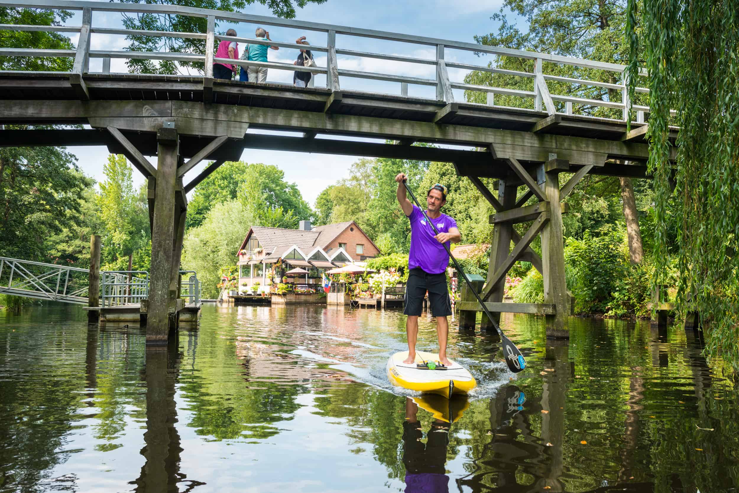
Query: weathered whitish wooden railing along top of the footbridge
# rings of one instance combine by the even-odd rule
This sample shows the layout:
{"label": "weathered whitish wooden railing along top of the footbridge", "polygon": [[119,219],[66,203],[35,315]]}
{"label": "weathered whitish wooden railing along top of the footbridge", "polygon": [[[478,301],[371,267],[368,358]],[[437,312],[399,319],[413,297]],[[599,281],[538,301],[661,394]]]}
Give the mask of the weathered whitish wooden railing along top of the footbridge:
{"label": "weathered whitish wooden railing along top of the footbridge", "polygon": [[[435,86],[436,100],[452,103],[454,95],[452,89],[463,89],[471,92],[483,92],[488,95],[486,101],[488,105],[495,105],[495,95],[514,96],[527,100],[533,100],[535,110],[546,111],[548,115],[554,115],[556,112],[562,112],[567,115],[585,114],[588,109],[593,107],[603,107],[616,109],[621,111],[620,120],[630,118],[629,109],[636,112],[636,120],[644,121],[644,113],[650,111],[649,106],[630,105],[627,90],[627,72],[626,66],[621,64],[611,64],[600,61],[591,61],[582,58],[571,58],[561,55],[551,55],[548,53],[531,52],[525,50],[513,50],[505,47],[492,47],[482,44],[466,43],[460,41],[451,41],[438,38],[429,38],[426,36],[408,35],[403,33],[389,33],[379,30],[360,29],[355,27],[346,27],[333,24],[322,24],[316,22],[295,21],[282,18],[252,16],[245,13],[231,13],[220,10],[207,10],[193,7],[181,7],[177,5],[159,5],[159,4],[124,4],[118,2],[100,2],[100,1],[74,1],[74,0],[17,0],[17,1],[0,1],[0,6],[4,7],[29,7],[44,8],[56,10],[82,10],[82,24],[78,27],[69,26],[21,26],[21,25],[0,25],[0,30],[21,30],[21,31],[51,31],[57,33],[80,33],[78,46],[76,50],[42,50],[42,49],[19,49],[19,48],[0,48],[0,55],[6,56],[64,56],[73,57],[75,59],[74,67],[70,76],[82,76],[89,72],[90,58],[103,58],[102,72],[110,73],[110,61],[112,58],[126,59],[148,59],[158,61],[174,61],[174,62],[202,62],[205,64],[205,80],[213,78],[213,63],[222,62],[228,64],[236,64],[240,67],[267,67],[269,69],[287,70],[290,72],[311,72],[315,74],[325,74],[327,78],[326,86],[328,89],[338,90],[341,87],[341,78],[361,78],[375,81],[390,81],[400,84],[400,94],[408,95],[409,85]],[[155,15],[177,15],[191,16],[195,18],[205,18],[207,27],[205,33],[180,33],[159,30],[129,30],[117,29],[112,27],[96,27],[92,25],[92,12],[121,13],[131,14],[155,14]],[[297,28],[303,31],[313,31],[326,33],[326,44],[318,46],[310,46],[313,52],[326,53],[326,64],[324,67],[297,67],[293,64],[285,64],[279,62],[259,62],[231,60],[229,58],[214,58],[214,41],[216,39],[237,41],[248,44],[266,44],[281,48],[290,48],[299,50],[305,46],[295,44],[289,41],[262,41],[259,39],[245,38],[239,36],[225,36],[216,33],[216,19],[227,21],[229,23],[247,23],[260,24],[276,27]],[[238,28],[238,26],[237,26]],[[187,52],[133,52],[126,50],[92,50],[90,39],[91,35],[141,35],[166,38],[190,38],[201,39],[204,41],[204,55]],[[435,58],[419,58],[403,55],[395,55],[389,53],[363,52],[358,50],[350,50],[346,47],[338,47],[336,44],[336,36],[341,35],[342,41],[346,40],[350,46],[361,46],[364,38],[374,38],[379,40],[395,41],[407,47],[426,46],[435,50]],[[476,52],[487,55],[496,55],[497,57],[512,57],[527,61],[531,66],[533,61],[533,69],[531,72],[501,69],[493,66],[479,66],[474,64],[457,63],[454,60],[447,60],[448,52],[463,51]],[[344,58],[337,58],[343,55]],[[431,78],[411,77],[408,75],[395,75],[390,73],[368,72],[362,70],[347,69],[346,62],[350,58],[373,58],[386,61],[397,61],[412,66],[431,67],[434,74]],[[342,67],[342,62],[344,67]],[[545,73],[544,67],[576,67],[573,73],[592,73],[592,70],[604,71],[607,74],[606,81],[592,81],[588,78],[562,77]],[[449,78],[449,69],[462,69],[466,71],[491,72],[492,74],[508,75],[514,78],[525,78],[532,80],[533,90],[522,90],[520,85],[516,84],[509,87],[505,86],[488,86],[467,84],[464,81],[452,81]],[[469,73],[469,72],[468,72]],[[640,75],[646,75],[644,70]],[[587,76],[587,75],[585,75]],[[548,82],[556,82],[557,87],[565,88],[565,94],[556,94],[550,91]],[[589,90],[590,89],[590,90]],[[581,97],[592,92],[591,89],[597,89],[601,92],[601,98]],[[605,89],[605,91],[603,90]],[[649,89],[637,87],[636,92],[648,93]],[[558,102],[559,104],[556,104]],[[564,103],[562,105],[562,103]]]}

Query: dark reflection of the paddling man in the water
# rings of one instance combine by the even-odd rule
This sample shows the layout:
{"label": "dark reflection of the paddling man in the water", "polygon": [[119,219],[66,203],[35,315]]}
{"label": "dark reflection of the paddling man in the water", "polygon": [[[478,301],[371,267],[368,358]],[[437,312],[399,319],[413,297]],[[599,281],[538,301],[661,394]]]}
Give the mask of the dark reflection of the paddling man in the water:
{"label": "dark reflection of the paddling man in the water", "polygon": [[[443,399],[446,401],[446,399]],[[418,405],[406,398],[406,421],[403,423],[403,464],[406,466],[406,493],[448,493],[446,446],[449,445],[449,422],[436,419],[426,435],[418,422]],[[468,404],[469,405],[469,404]]]}

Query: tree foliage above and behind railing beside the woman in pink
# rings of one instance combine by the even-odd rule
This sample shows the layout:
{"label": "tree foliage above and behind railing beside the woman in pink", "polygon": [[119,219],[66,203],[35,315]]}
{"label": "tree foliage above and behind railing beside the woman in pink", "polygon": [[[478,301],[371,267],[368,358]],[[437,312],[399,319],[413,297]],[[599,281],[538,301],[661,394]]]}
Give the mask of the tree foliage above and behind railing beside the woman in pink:
{"label": "tree foliage above and behind railing beside the woman in pink", "polygon": [[[121,0],[124,3],[143,4],[150,3],[149,0]],[[262,5],[267,5],[275,16],[284,18],[294,18],[296,15],[295,7],[303,8],[307,4],[322,4],[326,0],[256,0]],[[159,0],[157,4],[163,5],[186,5],[187,7],[206,8],[223,10],[225,12],[239,12],[247,9],[254,4],[255,0]],[[294,4],[293,4],[294,3]],[[207,27],[207,19],[191,16],[160,16],[158,14],[138,13],[123,16],[123,25],[126,29],[138,30],[159,30],[159,31],[177,31],[180,33],[205,33]],[[244,24],[240,24],[245,26]],[[247,24],[249,25],[249,24]],[[252,38],[254,35],[253,27],[243,27],[247,31],[238,33],[242,37]],[[223,26],[217,24],[217,33],[225,33],[228,30],[228,24]],[[155,36],[137,36],[130,35],[126,37],[130,41],[126,50],[130,51],[167,51],[178,53],[194,53],[197,55],[205,55],[205,44],[200,39],[183,39],[183,38],[165,38]],[[208,50],[215,50],[219,40],[215,40],[212,47]],[[243,49],[243,47],[242,47]],[[130,72],[136,73],[156,73],[156,74],[175,74],[178,73],[177,67],[187,67],[197,69],[202,72],[202,62],[178,61],[152,61],[152,60],[130,60],[126,62]]]}

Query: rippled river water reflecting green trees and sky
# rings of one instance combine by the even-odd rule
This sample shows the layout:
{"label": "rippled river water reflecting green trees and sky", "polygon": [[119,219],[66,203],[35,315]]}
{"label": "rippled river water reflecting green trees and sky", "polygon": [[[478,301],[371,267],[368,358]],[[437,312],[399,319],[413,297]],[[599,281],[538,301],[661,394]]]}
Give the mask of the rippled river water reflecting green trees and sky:
{"label": "rippled river water reflecting green trees and sky", "polygon": [[[388,383],[404,324],[205,305],[147,350],[75,306],[0,315],[0,492],[738,491],[738,401],[700,333],[572,318],[565,344],[505,315],[527,370],[453,330],[479,387],[449,402]],[[434,327],[421,317],[419,349]]]}

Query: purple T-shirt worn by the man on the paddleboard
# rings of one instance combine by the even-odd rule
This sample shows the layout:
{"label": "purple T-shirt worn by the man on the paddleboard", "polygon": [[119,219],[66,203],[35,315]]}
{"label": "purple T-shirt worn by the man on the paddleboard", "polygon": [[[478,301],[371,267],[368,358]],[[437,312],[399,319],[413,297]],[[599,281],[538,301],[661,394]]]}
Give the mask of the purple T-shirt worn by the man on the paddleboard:
{"label": "purple T-shirt worn by the man on the paddleboard", "polygon": [[[429,274],[439,274],[446,271],[449,265],[449,254],[446,253],[444,245],[434,238],[436,233],[430,224],[426,223],[418,206],[413,206],[413,211],[408,217],[411,222],[411,251],[408,255],[408,268],[420,267]],[[429,218],[429,220],[432,220]],[[441,214],[432,220],[439,233],[449,233],[449,228],[456,228],[457,221],[446,214]],[[449,246],[450,242],[446,242]]]}

